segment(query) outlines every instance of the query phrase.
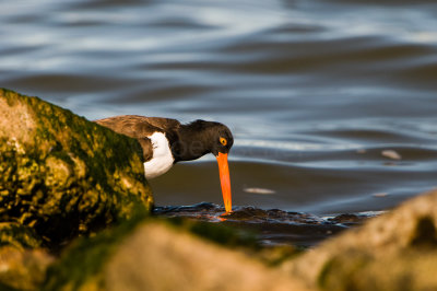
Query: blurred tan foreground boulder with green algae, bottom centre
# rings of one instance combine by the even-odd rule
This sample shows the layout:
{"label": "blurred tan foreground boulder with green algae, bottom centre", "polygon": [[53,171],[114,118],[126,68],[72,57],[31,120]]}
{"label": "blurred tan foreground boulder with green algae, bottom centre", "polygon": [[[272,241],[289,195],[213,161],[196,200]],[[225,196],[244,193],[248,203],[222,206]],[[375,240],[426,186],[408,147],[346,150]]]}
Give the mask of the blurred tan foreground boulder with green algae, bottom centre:
{"label": "blurred tan foreground boulder with green algae, bottom centre", "polygon": [[240,252],[149,220],[76,242],[49,268],[43,290],[308,289]]}

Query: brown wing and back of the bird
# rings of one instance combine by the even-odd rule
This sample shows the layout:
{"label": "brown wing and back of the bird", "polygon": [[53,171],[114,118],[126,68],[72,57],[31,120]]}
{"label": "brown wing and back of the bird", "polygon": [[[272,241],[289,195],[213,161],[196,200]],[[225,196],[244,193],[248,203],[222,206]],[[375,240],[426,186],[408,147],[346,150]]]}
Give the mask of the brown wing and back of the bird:
{"label": "brown wing and back of the bird", "polygon": [[138,139],[143,149],[144,162],[153,156],[152,142],[149,137],[154,132],[166,132],[167,138],[172,139],[173,132],[180,126],[176,119],[139,115],[120,115],[94,121],[117,133]]}

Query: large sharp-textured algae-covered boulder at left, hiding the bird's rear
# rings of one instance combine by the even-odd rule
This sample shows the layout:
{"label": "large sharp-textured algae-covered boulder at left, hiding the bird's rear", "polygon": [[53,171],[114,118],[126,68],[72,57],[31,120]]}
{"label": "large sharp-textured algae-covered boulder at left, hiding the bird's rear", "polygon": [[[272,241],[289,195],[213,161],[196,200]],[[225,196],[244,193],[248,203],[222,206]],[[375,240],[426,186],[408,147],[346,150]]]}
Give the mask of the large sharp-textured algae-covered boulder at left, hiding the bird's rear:
{"label": "large sharp-textured algae-covered boulder at left, hiding the bird's rear", "polygon": [[150,210],[141,156],[134,139],[0,89],[0,221],[45,245]]}

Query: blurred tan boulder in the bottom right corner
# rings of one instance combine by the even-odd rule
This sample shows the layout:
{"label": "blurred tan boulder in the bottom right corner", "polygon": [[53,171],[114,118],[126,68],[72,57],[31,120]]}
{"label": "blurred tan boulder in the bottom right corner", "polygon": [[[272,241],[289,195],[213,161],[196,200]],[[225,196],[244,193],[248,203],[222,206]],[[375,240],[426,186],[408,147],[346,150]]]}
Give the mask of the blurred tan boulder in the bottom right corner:
{"label": "blurred tan boulder in the bottom right corner", "polygon": [[437,190],[283,267],[322,290],[437,290]]}

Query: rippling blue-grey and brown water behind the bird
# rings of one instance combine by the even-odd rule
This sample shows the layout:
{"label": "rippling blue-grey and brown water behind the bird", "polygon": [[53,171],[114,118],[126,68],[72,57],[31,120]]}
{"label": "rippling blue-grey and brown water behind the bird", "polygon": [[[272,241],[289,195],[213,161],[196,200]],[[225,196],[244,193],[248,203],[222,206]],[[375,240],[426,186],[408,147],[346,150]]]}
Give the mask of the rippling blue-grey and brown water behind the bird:
{"label": "rippling blue-grey and brown water behind the bird", "polygon": [[[437,185],[435,1],[0,1],[0,86],[228,125],[239,207],[378,211]],[[222,203],[212,155],[152,184]]]}

